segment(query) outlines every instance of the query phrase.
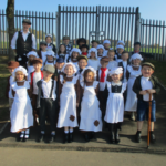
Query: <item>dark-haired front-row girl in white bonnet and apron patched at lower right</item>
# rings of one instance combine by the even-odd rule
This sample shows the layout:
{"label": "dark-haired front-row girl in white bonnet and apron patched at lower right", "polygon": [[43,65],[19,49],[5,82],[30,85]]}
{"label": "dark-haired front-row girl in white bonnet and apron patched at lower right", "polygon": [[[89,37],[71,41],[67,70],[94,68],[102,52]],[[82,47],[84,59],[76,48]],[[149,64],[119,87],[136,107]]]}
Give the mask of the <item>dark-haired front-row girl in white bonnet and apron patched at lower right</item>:
{"label": "dark-haired front-row girl in white bonnet and apron patched at lower right", "polygon": [[[96,71],[91,66],[82,71],[83,80],[81,82],[81,87],[84,93],[81,103],[80,129],[84,132],[86,142],[92,138],[94,132],[102,131],[102,112],[97,100],[98,82],[94,81]],[[90,134],[92,135],[90,136]]]}

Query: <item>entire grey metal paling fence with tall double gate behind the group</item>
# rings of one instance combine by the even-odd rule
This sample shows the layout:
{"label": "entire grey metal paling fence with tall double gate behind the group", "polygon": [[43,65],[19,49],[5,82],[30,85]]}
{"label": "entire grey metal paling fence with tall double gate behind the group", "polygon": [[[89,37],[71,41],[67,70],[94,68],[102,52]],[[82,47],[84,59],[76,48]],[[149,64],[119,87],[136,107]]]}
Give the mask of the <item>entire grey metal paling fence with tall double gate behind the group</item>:
{"label": "entire grey metal paling fence with tall double gate behind the group", "polygon": [[[96,39],[111,41],[115,48],[117,40],[125,42],[125,49],[133,51],[135,41],[141,41],[142,51],[154,55],[155,60],[166,60],[165,21],[141,19],[138,8],[117,7],[61,7],[58,12],[15,11],[14,28],[21,30],[22,20],[30,19],[30,31],[39,43],[45,34],[53,37],[56,46],[62,43],[63,35],[70,35],[70,42],[76,45],[79,38],[85,38],[87,44]],[[8,54],[8,22],[4,10],[0,10],[0,54]]]}

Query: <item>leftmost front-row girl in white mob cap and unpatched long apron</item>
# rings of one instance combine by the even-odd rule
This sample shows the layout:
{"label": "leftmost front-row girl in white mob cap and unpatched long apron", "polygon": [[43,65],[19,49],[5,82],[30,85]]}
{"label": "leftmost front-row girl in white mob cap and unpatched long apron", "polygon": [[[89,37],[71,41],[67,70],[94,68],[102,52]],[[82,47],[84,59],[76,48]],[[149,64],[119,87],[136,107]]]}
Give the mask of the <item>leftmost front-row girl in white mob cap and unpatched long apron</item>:
{"label": "leftmost front-row girl in white mob cap and unpatched long apron", "polygon": [[17,141],[25,141],[29,138],[29,128],[33,126],[33,114],[31,101],[28,94],[30,89],[27,70],[19,66],[13,72],[14,82],[11,85],[12,95],[14,97],[10,112],[11,132],[19,133]]}

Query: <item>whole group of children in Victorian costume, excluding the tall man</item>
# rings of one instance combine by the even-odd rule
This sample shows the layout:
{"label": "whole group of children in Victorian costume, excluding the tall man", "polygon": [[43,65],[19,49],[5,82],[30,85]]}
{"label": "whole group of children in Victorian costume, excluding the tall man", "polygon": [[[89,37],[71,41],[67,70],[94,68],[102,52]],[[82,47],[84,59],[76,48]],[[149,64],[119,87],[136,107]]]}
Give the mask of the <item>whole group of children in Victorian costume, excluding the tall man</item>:
{"label": "whole group of children in Victorian costume, excluding the tall man", "polygon": [[[77,40],[77,49],[69,44],[69,37],[64,37],[64,44],[56,52],[51,40],[48,34],[38,53],[27,54],[27,69],[14,61],[8,63],[11,132],[18,133],[18,141],[28,139],[29,128],[37,124],[40,124],[38,141],[44,141],[45,120],[49,120],[49,142],[55,141],[55,129],[62,127],[63,143],[73,142],[75,127],[89,142],[103,129],[105,122],[111,131],[110,142],[117,144],[126,111],[133,121],[137,120],[136,141],[141,142],[149,94],[153,94],[151,141],[155,142],[155,95],[159,85],[152,75],[155,66],[142,63],[139,50],[129,58],[124,41],[118,41],[113,50],[108,40],[103,44],[94,40],[89,50],[83,38]],[[139,48],[141,43],[136,42],[134,46]]]}

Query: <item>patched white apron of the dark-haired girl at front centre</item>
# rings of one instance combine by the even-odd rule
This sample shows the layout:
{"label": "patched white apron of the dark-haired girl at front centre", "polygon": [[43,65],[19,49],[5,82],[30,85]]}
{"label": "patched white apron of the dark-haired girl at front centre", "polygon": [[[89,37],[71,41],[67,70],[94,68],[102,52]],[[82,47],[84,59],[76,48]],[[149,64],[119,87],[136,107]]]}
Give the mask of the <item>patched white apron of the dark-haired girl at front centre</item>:
{"label": "patched white apron of the dark-haired girl at front centre", "polygon": [[[102,131],[102,112],[100,110],[100,102],[96,97],[94,89],[96,89],[98,82],[94,81],[92,86],[84,86],[84,83],[81,86],[84,89],[84,94],[81,103],[81,131]],[[98,121],[98,126],[94,125],[95,121]]]}

